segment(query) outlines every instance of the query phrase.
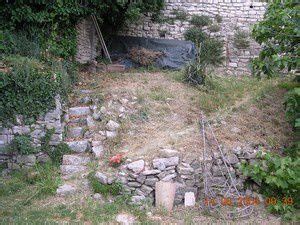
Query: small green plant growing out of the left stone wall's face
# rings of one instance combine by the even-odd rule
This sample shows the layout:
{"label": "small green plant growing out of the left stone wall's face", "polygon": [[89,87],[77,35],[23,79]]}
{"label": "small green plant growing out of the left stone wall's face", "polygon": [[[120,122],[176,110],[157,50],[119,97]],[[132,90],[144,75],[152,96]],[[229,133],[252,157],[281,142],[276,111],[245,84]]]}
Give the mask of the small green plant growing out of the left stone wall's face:
{"label": "small green plant growing out of the left stone wall's face", "polygon": [[29,155],[37,152],[32,146],[31,137],[28,135],[18,135],[7,146],[6,151],[14,154]]}

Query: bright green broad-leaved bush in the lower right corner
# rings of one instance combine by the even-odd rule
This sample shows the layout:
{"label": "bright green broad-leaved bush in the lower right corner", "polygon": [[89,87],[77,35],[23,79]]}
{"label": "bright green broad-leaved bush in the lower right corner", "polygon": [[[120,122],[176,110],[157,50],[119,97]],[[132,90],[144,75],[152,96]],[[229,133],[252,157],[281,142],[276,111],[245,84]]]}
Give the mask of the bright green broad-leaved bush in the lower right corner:
{"label": "bright green broad-leaved bush in the lower right corner", "polygon": [[[260,190],[266,197],[275,197],[276,204],[269,206],[275,213],[285,214],[291,218],[295,208],[300,206],[300,159],[282,157],[266,153],[262,160],[254,165],[243,165],[243,174],[260,184]],[[287,204],[291,198],[293,204]]]}

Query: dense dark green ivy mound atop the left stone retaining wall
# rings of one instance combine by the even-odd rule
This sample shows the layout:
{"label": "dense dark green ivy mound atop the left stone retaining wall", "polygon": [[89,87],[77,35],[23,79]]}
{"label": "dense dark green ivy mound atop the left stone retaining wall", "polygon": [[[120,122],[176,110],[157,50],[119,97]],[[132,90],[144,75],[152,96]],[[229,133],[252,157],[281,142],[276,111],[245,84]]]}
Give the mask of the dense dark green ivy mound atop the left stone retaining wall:
{"label": "dense dark green ivy mound atop the left stone retaining wall", "polygon": [[25,123],[55,106],[54,97],[60,93],[61,74],[53,73],[36,60],[18,57],[9,62],[7,73],[0,72],[0,122],[9,125],[16,115]]}

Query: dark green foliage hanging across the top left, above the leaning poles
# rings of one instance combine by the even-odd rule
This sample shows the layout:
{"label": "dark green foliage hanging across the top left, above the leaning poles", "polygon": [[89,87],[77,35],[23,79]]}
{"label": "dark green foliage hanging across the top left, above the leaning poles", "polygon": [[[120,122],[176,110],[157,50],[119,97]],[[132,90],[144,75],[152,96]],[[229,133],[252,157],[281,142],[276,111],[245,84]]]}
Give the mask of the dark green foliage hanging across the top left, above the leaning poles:
{"label": "dark green foliage hanging across the top left, above the leaning poles", "polygon": [[6,1],[0,5],[0,29],[37,37],[41,52],[69,59],[76,53],[75,25],[81,19],[95,14],[104,33],[112,33],[143,14],[155,16],[163,6],[164,0]]}

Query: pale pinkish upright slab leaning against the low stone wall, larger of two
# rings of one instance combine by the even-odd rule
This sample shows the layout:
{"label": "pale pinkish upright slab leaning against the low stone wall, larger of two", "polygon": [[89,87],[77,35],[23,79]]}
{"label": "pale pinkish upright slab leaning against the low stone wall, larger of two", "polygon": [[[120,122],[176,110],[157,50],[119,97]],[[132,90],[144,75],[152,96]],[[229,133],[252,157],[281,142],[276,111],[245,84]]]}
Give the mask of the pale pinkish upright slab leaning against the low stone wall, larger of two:
{"label": "pale pinkish upright slab leaning against the low stone wall, larger of two", "polygon": [[171,182],[157,182],[155,185],[155,206],[172,211],[175,199],[176,184]]}

